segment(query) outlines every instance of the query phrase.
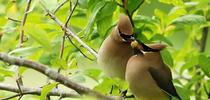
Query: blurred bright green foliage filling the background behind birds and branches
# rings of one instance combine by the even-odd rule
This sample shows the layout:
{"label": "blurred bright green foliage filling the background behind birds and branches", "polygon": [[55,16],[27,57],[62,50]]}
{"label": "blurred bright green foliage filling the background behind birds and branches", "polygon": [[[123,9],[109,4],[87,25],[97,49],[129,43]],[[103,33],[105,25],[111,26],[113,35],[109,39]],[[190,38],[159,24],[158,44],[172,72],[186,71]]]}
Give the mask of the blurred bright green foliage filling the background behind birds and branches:
{"label": "blurred bright green foliage filling the background behind birds and branches", "polygon": [[[45,1],[47,8],[53,12],[63,0],[42,1]],[[76,0],[71,1],[74,6]],[[141,2],[142,0],[128,0],[129,13],[134,12]],[[97,51],[116,25],[119,14],[123,13],[120,4],[121,0],[79,0],[69,26],[85,43]],[[29,10],[24,27],[23,47],[17,48],[20,22],[9,18],[21,20],[26,5],[26,0],[0,1],[0,52],[34,60],[54,69],[61,68],[61,73],[73,81],[103,94],[108,94],[113,87],[113,95],[120,95],[119,89],[127,88],[125,82],[104,75],[95,60],[85,58],[67,39],[63,57],[59,58],[64,33],[53,20],[45,16],[38,0],[32,1]],[[69,3],[66,3],[55,14],[63,23],[70,13],[69,7]],[[205,45],[201,40],[205,38],[203,34],[209,34],[203,30],[210,26],[210,1],[145,0],[134,12],[133,21],[135,36],[138,39],[144,43],[161,42],[168,45],[162,56],[172,69],[175,86],[183,100],[195,97],[200,98],[198,100],[207,100],[210,93],[210,35],[207,35]],[[94,58],[77,41],[72,39],[72,42],[85,55]],[[202,46],[205,50],[201,50]],[[6,77],[14,78],[17,72],[24,74],[26,71],[27,69],[18,70],[17,66],[0,62],[0,81],[4,82]],[[196,87],[197,84],[199,87]],[[53,87],[55,83],[45,86],[46,89],[43,90],[45,93],[40,97],[45,98],[46,93]],[[3,98],[10,93],[0,91],[0,94]]]}

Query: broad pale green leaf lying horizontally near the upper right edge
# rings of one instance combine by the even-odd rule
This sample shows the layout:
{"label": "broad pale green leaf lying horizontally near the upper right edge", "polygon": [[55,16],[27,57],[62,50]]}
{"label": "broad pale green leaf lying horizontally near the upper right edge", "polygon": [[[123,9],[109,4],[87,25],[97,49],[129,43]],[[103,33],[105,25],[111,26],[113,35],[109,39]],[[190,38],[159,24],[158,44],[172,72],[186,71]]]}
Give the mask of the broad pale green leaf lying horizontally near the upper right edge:
{"label": "broad pale green leaf lying horizontally near the upper right edge", "polygon": [[206,19],[204,16],[201,16],[201,15],[184,15],[184,16],[174,19],[171,23],[172,24],[186,24],[186,25],[205,24]]}

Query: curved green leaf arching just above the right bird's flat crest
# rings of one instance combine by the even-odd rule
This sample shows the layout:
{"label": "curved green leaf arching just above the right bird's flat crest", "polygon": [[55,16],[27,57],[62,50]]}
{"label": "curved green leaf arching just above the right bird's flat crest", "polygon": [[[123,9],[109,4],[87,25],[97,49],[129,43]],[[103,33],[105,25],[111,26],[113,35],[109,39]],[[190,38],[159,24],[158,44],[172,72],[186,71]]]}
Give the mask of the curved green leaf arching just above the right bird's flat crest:
{"label": "curved green leaf arching just above the right bird's flat crest", "polygon": [[173,46],[172,42],[168,38],[164,37],[161,34],[155,34],[150,40],[151,41],[162,41],[162,42],[167,43],[170,46]]}

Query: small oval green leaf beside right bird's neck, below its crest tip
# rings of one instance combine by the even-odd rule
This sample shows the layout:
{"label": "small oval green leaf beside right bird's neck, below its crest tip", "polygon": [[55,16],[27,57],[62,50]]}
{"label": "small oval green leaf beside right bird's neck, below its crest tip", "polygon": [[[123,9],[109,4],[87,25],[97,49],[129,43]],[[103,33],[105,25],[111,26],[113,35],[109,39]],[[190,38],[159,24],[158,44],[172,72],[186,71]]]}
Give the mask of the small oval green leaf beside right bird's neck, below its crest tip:
{"label": "small oval green leaf beside right bird's neck, below its crest tip", "polygon": [[167,65],[169,65],[170,67],[173,67],[173,65],[174,65],[173,57],[172,57],[171,53],[168,50],[166,50],[166,49],[162,50],[161,51],[161,56],[163,58],[163,61]]}

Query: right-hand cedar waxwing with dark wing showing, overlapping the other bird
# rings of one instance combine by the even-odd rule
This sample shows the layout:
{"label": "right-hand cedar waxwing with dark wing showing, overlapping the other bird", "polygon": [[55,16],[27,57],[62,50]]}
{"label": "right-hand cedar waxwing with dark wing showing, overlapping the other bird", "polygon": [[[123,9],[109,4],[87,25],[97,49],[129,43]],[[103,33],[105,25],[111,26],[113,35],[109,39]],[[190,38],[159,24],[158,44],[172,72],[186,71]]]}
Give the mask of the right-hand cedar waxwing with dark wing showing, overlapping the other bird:
{"label": "right-hand cedar waxwing with dark wing showing, overlapping the other bird", "polygon": [[135,54],[128,60],[126,80],[137,100],[169,100],[174,96],[181,100],[172,83],[169,67],[164,64],[160,52],[166,46],[151,44],[156,52],[144,52],[138,42],[131,43]]}

